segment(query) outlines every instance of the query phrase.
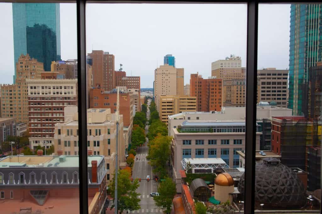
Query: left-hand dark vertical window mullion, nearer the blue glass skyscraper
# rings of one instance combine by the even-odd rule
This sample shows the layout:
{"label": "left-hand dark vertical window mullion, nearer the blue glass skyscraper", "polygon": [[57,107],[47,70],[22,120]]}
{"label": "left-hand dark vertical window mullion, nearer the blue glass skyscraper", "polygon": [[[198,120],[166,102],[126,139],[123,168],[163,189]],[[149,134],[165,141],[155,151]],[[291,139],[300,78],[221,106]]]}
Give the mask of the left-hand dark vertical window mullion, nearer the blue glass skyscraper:
{"label": "left-hand dark vertical window mullion, nearer the blue glass skyscraper", "polygon": [[[78,126],[79,141],[87,141],[87,101],[86,101],[86,39],[85,4],[86,0],[77,0],[77,59],[78,59]],[[79,190],[80,213],[88,214],[88,170],[87,145],[79,144]]]}

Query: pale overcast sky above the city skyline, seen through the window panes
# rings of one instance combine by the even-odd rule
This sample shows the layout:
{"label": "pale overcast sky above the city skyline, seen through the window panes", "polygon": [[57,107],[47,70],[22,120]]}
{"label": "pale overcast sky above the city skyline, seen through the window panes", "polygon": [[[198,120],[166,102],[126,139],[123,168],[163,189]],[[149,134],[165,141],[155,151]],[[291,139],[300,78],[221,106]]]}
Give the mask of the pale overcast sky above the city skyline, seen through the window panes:
{"label": "pale overcast sky above the city skyline, seen through the window panes", "polygon": [[[60,4],[61,56],[77,58],[76,4]],[[289,65],[289,4],[259,6],[258,68]],[[0,83],[12,83],[14,48],[11,3],[0,3]],[[234,54],[246,66],[246,4],[88,4],[87,53],[104,50],[151,88],[154,70],[172,54],[176,67],[211,76],[211,63]]]}

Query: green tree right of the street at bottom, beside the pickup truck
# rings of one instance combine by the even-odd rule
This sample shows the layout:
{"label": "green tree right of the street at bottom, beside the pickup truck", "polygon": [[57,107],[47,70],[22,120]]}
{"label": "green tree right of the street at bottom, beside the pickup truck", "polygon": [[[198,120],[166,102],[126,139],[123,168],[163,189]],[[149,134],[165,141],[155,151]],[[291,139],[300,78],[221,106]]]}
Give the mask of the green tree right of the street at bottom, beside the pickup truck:
{"label": "green tree right of the street at bottom, beside the pickup truck", "polygon": [[153,197],[156,206],[166,208],[166,213],[170,213],[172,200],[176,194],[175,183],[171,178],[167,177],[164,182],[159,183],[158,192],[159,196]]}

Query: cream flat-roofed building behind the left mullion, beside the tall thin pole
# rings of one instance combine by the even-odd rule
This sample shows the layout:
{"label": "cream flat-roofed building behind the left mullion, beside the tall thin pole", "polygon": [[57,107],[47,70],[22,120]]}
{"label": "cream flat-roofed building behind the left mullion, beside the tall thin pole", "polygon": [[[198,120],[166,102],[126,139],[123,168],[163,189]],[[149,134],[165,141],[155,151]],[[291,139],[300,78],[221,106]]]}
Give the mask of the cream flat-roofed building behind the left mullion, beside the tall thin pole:
{"label": "cream flat-roofed building behind the left mullion, beside the tall thin pole", "polygon": [[[108,108],[87,110],[87,149],[94,155],[103,155],[107,180],[112,177],[115,166],[116,123],[115,113]],[[64,155],[78,155],[78,112],[77,107],[65,108],[65,123],[55,124],[55,154],[62,150]],[[118,161],[125,162],[125,142],[123,138],[123,116],[120,115],[118,128]],[[119,165],[120,166],[120,165]]]}

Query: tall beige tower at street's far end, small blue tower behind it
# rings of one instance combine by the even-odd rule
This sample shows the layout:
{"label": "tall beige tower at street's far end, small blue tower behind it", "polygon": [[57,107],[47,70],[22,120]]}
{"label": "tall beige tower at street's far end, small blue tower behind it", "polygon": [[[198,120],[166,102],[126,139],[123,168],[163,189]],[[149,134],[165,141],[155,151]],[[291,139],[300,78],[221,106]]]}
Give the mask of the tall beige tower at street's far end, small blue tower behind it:
{"label": "tall beige tower at street's far end, small blue tower behind it", "polygon": [[154,71],[154,98],[159,109],[160,95],[183,95],[184,69],[171,65],[161,65]]}

